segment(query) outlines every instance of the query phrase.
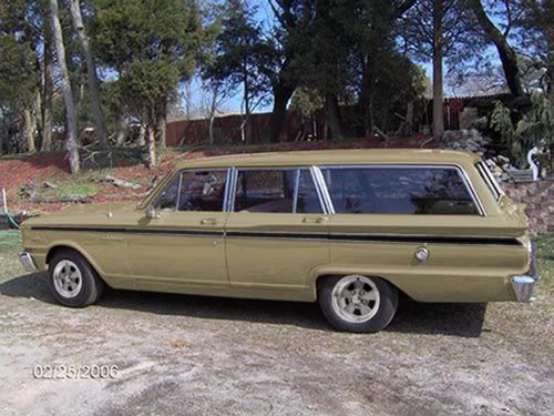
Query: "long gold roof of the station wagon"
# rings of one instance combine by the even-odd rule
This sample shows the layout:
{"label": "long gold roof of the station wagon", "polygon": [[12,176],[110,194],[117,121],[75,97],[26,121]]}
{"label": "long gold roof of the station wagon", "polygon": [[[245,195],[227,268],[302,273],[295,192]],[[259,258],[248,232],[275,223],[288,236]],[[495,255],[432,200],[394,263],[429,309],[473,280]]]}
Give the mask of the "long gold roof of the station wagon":
{"label": "long gold roof of the station wagon", "polygon": [[473,164],[479,158],[475,153],[437,149],[312,150],[239,153],[192,159],[177,163],[176,168],[181,170],[191,168],[305,166],[365,163]]}

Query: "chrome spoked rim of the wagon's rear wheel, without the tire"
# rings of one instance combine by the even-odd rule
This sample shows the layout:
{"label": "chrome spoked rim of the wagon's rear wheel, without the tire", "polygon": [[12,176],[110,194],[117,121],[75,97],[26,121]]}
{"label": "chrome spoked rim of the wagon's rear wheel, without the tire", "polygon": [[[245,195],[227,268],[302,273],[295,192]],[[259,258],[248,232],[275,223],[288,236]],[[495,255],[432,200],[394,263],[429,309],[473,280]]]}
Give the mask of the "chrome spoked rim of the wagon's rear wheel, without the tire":
{"label": "chrome spoked rim of the wagon's rear wheel, without the tire", "polygon": [[371,278],[345,276],[332,290],[332,308],[342,319],[359,324],[371,319],[379,311],[381,296]]}

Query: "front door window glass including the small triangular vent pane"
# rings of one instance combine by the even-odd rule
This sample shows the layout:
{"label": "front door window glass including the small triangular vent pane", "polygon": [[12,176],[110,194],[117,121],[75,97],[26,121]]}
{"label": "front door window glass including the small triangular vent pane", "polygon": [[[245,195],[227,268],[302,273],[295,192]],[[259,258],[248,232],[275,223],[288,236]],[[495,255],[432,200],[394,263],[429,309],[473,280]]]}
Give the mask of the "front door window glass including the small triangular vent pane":
{"label": "front door window glass including the small triangular vent pane", "polygon": [[167,185],[154,206],[164,211],[223,211],[227,171],[184,171]]}

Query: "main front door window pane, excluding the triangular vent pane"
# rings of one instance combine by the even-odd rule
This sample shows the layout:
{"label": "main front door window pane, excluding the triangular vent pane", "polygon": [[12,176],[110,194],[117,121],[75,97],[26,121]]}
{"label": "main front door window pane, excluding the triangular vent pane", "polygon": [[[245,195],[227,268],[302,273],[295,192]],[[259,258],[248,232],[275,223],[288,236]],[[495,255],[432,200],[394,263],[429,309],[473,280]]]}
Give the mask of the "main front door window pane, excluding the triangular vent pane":
{"label": "main front door window pane, excluding the triangular vent pane", "polygon": [[178,211],[223,211],[227,171],[184,171]]}

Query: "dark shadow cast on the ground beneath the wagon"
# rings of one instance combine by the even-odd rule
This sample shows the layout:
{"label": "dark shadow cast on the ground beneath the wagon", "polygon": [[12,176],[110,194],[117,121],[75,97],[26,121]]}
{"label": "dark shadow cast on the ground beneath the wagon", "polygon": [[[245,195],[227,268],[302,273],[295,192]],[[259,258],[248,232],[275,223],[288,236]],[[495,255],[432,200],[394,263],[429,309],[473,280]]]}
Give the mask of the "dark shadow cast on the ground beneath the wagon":
{"label": "dark shadow cast on the ground beneath the wagon", "polygon": [[[1,283],[0,294],[57,304],[47,284],[44,273],[28,274]],[[160,315],[289,324],[332,331],[316,303],[207,297],[107,288],[98,306]],[[402,298],[394,319],[386,331],[479,337],[482,333],[485,312],[486,304],[430,304]]]}

